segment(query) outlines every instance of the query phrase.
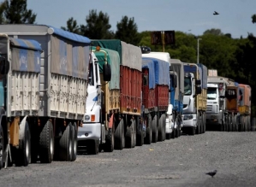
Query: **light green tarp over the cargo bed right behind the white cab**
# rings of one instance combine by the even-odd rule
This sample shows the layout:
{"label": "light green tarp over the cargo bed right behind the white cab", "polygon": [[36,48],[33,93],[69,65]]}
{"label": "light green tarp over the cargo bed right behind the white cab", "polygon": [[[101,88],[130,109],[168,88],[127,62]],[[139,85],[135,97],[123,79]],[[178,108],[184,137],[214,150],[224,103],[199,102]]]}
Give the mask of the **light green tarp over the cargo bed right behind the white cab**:
{"label": "light green tarp over the cargo bed right behind the white cab", "polygon": [[[92,47],[92,51],[95,50],[96,47]],[[101,48],[100,50],[104,50],[106,53],[107,61],[111,67],[111,80],[110,90],[112,89],[120,89],[120,56],[116,50],[109,50],[105,48]],[[103,72],[103,65],[105,62],[104,52],[94,51],[95,56],[98,58],[98,66],[99,72]]]}

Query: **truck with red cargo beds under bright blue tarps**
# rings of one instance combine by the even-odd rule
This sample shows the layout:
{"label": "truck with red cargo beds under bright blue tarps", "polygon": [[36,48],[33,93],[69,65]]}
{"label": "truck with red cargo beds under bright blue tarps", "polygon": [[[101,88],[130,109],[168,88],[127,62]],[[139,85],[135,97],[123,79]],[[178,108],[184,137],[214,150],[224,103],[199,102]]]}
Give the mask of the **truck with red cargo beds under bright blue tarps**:
{"label": "truck with red cargo beds under bright blue tarps", "polygon": [[142,57],[142,121],[146,126],[145,143],[165,139],[166,111],[169,106],[170,64],[152,57]]}

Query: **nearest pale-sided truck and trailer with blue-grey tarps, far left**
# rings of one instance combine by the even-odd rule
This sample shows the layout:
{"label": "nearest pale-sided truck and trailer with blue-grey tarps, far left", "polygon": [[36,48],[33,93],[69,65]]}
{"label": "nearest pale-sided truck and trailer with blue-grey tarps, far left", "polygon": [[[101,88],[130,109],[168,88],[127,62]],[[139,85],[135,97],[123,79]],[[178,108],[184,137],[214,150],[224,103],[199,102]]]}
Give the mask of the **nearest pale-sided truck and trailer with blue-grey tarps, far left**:
{"label": "nearest pale-sided truck and trailer with blue-grey tarps, far left", "polygon": [[2,166],[75,161],[91,40],[45,25],[7,24],[0,32],[1,64],[9,65],[0,89]]}

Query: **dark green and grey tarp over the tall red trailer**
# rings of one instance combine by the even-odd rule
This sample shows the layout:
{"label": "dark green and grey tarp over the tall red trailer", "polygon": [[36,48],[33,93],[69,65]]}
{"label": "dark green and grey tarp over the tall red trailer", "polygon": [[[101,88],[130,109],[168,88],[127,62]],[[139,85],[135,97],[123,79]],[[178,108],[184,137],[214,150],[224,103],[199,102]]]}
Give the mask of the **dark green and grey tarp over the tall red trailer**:
{"label": "dark green and grey tarp over the tall red trailer", "polygon": [[126,44],[119,39],[92,39],[93,46],[116,50],[121,57],[121,65],[137,69],[141,72],[141,50],[140,47],[132,44]]}

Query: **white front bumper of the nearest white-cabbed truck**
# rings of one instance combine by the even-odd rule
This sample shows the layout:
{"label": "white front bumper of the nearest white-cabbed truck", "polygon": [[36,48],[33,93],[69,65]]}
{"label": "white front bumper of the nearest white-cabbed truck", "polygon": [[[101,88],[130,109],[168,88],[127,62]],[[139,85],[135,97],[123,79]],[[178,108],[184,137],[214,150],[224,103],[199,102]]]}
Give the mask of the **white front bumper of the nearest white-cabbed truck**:
{"label": "white front bumper of the nearest white-cabbed truck", "polygon": [[78,127],[77,140],[100,140],[100,134],[100,123],[83,123],[83,126]]}

